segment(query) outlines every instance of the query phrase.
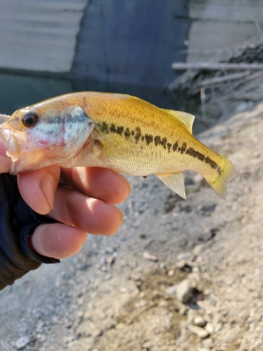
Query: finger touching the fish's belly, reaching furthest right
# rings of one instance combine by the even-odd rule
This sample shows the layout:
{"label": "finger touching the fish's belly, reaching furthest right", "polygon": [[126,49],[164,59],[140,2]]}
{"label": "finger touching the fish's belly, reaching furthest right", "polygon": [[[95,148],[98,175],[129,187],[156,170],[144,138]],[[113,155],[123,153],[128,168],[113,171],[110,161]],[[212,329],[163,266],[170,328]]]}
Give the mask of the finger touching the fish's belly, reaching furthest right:
{"label": "finger touching the fish's belly, reaching furthest right", "polygon": [[107,168],[62,168],[61,180],[108,204],[121,204],[130,194],[128,180],[120,173]]}

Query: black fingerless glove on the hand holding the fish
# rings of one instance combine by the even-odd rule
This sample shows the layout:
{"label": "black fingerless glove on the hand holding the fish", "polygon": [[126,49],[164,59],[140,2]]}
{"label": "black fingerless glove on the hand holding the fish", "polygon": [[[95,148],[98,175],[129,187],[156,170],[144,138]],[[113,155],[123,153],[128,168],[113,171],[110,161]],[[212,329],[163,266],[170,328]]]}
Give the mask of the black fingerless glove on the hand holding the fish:
{"label": "black fingerless glove on the hand holding the fish", "polygon": [[29,246],[29,237],[42,223],[55,223],[27,206],[15,176],[0,174],[0,290],[41,263],[59,263],[41,256]]}

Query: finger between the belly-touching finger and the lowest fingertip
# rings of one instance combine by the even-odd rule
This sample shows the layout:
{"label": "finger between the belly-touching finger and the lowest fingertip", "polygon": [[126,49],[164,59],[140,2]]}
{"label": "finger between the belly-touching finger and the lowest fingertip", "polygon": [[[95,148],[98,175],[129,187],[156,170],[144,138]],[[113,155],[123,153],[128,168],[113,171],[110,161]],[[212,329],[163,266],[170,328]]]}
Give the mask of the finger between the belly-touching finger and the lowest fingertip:
{"label": "finger between the belly-touching finger and the lowest fingertip", "polygon": [[58,187],[54,207],[48,217],[79,227],[90,234],[102,235],[116,233],[123,223],[123,214],[116,206],[62,185]]}

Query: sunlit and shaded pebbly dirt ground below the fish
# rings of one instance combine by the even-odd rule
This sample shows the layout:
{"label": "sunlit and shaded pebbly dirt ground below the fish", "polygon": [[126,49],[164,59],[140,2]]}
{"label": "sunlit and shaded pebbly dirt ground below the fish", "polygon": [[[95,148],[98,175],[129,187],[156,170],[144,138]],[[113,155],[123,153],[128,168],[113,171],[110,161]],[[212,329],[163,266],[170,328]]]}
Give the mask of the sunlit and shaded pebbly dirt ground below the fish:
{"label": "sunlit and shaded pebbly dirt ground below the fish", "polygon": [[226,200],[130,177],[114,237],[0,292],[0,350],[263,350],[263,105],[199,135],[236,166]]}

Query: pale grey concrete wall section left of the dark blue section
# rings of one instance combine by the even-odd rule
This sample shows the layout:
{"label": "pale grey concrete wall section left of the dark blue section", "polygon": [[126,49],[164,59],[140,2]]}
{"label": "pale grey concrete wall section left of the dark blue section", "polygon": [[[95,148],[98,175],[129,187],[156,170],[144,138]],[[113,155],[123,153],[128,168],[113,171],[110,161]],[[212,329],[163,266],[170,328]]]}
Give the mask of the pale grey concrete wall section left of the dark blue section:
{"label": "pale grey concrete wall section left of the dark blue section", "polygon": [[69,72],[88,0],[1,0],[0,67]]}

